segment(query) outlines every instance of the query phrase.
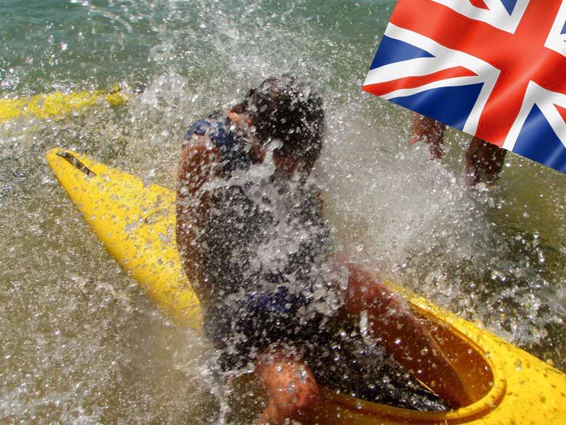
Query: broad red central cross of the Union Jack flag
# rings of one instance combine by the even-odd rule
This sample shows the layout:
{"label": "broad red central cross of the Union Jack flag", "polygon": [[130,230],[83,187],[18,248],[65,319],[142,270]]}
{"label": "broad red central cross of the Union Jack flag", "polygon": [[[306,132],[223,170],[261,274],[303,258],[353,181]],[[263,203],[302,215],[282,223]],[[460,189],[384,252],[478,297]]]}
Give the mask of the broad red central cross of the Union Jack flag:
{"label": "broad red central cross of the Union Jack flag", "polygon": [[[523,102],[529,80],[566,94],[566,57],[544,47],[562,0],[530,1],[514,34],[456,13],[432,0],[403,0],[391,23],[452,50],[466,52],[501,70],[476,135],[503,145]],[[427,18],[420,13],[426,11]]]}

